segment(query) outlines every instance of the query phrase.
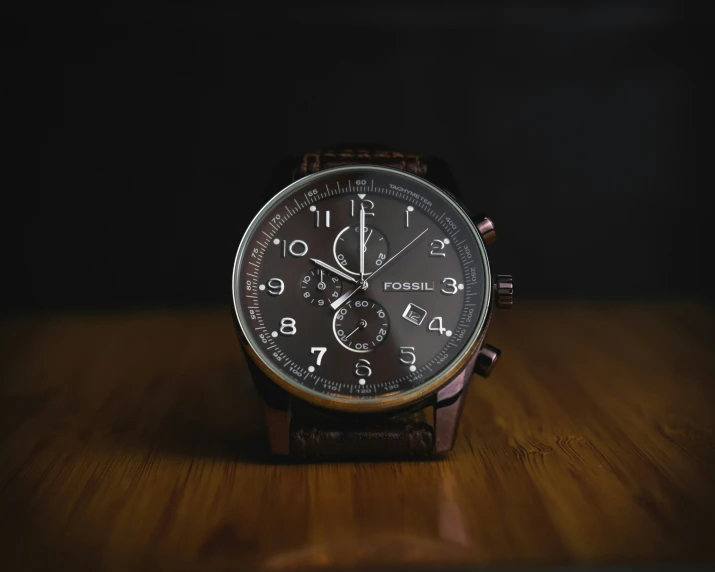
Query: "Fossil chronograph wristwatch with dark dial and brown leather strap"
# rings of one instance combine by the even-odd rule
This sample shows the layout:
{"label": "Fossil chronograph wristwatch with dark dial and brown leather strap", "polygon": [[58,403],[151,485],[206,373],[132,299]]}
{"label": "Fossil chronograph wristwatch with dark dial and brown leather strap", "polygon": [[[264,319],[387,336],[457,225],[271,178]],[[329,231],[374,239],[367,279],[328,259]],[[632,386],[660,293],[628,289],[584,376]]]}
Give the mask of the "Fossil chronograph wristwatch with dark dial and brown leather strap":
{"label": "Fossil chronograph wristwatch with dark dial and brown leather strap", "polygon": [[[282,189],[282,190],[281,190]],[[233,266],[234,321],[277,455],[449,451],[511,276],[435,157],[332,149],[279,161]]]}

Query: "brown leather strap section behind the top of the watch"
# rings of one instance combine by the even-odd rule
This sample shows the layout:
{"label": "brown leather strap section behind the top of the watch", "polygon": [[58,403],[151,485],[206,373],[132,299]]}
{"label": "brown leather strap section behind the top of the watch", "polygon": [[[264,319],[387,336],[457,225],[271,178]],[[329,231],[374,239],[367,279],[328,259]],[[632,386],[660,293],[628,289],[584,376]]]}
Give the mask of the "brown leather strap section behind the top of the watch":
{"label": "brown leather strap section behind the top of the watch", "polygon": [[324,149],[303,155],[296,174],[298,177],[304,177],[321,169],[338,167],[340,165],[361,164],[393,167],[421,176],[427,173],[427,162],[425,158],[415,153],[376,151],[370,149]]}

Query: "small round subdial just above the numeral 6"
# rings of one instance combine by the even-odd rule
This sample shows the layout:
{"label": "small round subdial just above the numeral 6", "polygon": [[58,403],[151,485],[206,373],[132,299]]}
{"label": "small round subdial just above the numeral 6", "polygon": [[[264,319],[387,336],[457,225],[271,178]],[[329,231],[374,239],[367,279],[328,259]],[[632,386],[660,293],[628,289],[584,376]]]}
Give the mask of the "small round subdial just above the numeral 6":
{"label": "small round subdial just above the numeral 6", "polygon": [[387,339],[390,318],[374,300],[351,300],[335,313],[333,333],[353,352],[369,352]]}

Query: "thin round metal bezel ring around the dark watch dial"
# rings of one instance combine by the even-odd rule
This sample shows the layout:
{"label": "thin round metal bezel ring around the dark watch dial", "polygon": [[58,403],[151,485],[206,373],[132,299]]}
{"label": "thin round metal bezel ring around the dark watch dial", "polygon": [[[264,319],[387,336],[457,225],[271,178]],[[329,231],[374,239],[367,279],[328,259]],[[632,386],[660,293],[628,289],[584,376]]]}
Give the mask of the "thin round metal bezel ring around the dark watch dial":
{"label": "thin round metal bezel ring around the dark watch dial", "polygon": [[[277,203],[283,200],[285,195],[290,194],[296,187],[306,184],[309,180],[319,180],[325,176],[330,176],[331,174],[339,172],[351,172],[351,171],[364,171],[364,170],[376,170],[376,171],[386,171],[389,173],[394,173],[407,179],[414,179],[418,183],[426,185],[433,192],[438,193],[443,196],[456,211],[464,219],[468,230],[475,237],[477,244],[479,245],[480,253],[483,260],[484,267],[484,280],[485,280],[485,292],[484,301],[482,308],[480,309],[479,322],[474,329],[469,341],[465,344],[463,350],[450,362],[450,365],[443,369],[442,372],[434,376],[432,380],[419,385],[414,389],[408,391],[402,391],[397,394],[378,396],[378,397],[349,397],[349,396],[335,396],[320,393],[309,389],[305,386],[301,386],[292,380],[287,375],[274,368],[271,362],[264,359],[261,356],[261,352],[251,342],[248,335],[248,328],[246,327],[245,316],[243,315],[240,306],[240,280],[239,272],[241,267],[241,260],[243,258],[243,253],[246,249],[246,245],[249,243],[253,231],[257,226],[257,223],[262,220],[263,216],[270,211]],[[249,359],[252,359],[256,366],[270,379],[274,384],[276,384],[281,389],[288,392],[288,394],[306,401],[314,406],[322,407],[324,409],[329,409],[333,411],[340,412],[350,412],[350,413],[377,413],[393,411],[397,409],[404,409],[409,407],[411,404],[423,401],[432,394],[436,394],[440,389],[447,385],[456,375],[458,375],[469,362],[470,358],[479,351],[482,342],[484,341],[484,335],[486,333],[486,328],[489,324],[489,318],[492,311],[492,274],[489,265],[489,256],[486,251],[486,245],[479,234],[474,222],[472,221],[469,213],[461,206],[461,204],[446,190],[441,189],[434,183],[420,177],[413,173],[403,171],[401,169],[394,169],[392,167],[383,167],[380,165],[345,165],[340,167],[332,167],[329,169],[323,169],[316,173],[311,173],[305,177],[301,177],[293,181],[290,185],[284,187],[282,190],[277,192],[266,204],[264,204],[258,213],[253,217],[248,228],[241,238],[238,250],[236,251],[236,256],[233,263],[233,272],[231,275],[231,294],[233,299],[233,312],[234,320],[237,324],[239,339],[244,347]]]}

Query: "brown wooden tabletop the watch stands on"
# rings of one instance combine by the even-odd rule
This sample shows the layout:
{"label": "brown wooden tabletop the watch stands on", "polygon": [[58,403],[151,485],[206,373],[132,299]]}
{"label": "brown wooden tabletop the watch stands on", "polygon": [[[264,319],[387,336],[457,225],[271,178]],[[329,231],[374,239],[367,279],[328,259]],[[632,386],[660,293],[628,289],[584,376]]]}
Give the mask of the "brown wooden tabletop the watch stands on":
{"label": "brown wooden tabletop the watch stands on", "polygon": [[4,570],[715,561],[715,326],[522,303],[441,461],[272,464],[226,310],[6,318]]}

